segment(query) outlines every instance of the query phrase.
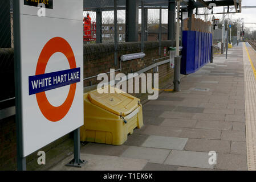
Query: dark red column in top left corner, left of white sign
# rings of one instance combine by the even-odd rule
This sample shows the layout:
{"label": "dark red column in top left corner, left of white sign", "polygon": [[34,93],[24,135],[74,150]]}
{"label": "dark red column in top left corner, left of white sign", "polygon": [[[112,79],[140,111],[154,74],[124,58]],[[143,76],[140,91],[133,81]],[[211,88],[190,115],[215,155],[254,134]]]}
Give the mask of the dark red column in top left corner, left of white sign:
{"label": "dark red column in top left corner, left of white sign", "polygon": [[11,10],[10,0],[0,1],[0,48],[11,47]]}

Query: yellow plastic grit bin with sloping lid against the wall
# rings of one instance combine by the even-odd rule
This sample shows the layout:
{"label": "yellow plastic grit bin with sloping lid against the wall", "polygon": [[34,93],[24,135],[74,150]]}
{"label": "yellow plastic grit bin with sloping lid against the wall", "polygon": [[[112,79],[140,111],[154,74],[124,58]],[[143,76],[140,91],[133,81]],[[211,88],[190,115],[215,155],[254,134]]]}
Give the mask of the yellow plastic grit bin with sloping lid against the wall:
{"label": "yellow plastic grit bin with sloping lid against the wall", "polygon": [[139,98],[127,93],[100,94],[97,90],[84,94],[81,141],[121,145],[127,140],[128,134],[142,126],[143,114]]}

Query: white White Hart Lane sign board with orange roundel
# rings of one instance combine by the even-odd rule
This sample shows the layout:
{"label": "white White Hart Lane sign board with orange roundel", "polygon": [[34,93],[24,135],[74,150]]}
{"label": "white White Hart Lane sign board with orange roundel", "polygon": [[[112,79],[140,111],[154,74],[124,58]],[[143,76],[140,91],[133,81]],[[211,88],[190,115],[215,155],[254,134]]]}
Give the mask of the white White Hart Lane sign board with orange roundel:
{"label": "white White Hart Lane sign board with orange roundel", "polygon": [[83,0],[18,1],[25,157],[83,125]]}

